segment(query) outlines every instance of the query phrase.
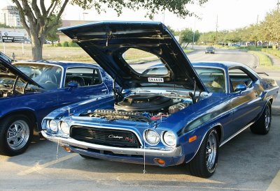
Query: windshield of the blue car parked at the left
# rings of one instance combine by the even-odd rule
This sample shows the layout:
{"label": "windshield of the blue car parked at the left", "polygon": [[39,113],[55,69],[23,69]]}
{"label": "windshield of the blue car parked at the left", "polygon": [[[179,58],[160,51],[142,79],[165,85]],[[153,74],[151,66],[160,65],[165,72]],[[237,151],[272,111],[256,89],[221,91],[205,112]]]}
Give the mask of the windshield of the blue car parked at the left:
{"label": "windshield of the blue car parked at the left", "polygon": [[62,68],[59,66],[36,63],[15,63],[14,66],[45,89],[59,87],[62,77]]}

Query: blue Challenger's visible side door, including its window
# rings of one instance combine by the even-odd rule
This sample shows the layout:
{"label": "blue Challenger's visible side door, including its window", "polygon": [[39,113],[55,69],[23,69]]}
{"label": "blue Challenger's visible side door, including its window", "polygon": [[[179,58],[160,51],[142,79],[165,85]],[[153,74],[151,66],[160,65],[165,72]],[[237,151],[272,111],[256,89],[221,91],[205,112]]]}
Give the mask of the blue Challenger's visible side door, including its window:
{"label": "blue Challenger's visible side door, including its window", "polygon": [[[232,85],[231,94],[233,95],[232,123],[235,127],[233,132],[237,132],[258,116],[262,109],[262,99],[260,98],[260,91],[258,91],[258,79],[248,70],[238,67],[230,68],[229,76]],[[245,84],[246,90],[235,90],[237,84]]]}

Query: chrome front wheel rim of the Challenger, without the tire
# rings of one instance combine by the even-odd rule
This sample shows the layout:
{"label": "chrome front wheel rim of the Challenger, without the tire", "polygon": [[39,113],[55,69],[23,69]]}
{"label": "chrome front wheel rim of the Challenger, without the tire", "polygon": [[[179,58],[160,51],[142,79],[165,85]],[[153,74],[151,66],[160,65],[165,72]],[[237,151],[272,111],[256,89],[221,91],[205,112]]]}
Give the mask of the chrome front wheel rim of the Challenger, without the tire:
{"label": "chrome front wheel rim of the Challenger, without the tire", "polygon": [[206,146],[206,165],[209,172],[215,170],[214,165],[216,165],[216,155],[217,155],[217,141],[214,132],[211,132],[207,139]]}

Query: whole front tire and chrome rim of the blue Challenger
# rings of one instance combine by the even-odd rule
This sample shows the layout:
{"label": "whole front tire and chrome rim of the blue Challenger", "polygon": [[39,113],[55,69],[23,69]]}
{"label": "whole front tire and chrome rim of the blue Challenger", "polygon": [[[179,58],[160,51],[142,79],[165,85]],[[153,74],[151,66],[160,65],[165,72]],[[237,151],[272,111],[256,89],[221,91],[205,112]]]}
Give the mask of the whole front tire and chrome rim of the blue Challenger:
{"label": "whole front tire and chrome rim of the blue Challenger", "polygon": [[215,129],[210,130],[202,141],[195,158],[188,163],[190,174],[202,178],[212,176],[218,163],[218,146],[218,133]]}

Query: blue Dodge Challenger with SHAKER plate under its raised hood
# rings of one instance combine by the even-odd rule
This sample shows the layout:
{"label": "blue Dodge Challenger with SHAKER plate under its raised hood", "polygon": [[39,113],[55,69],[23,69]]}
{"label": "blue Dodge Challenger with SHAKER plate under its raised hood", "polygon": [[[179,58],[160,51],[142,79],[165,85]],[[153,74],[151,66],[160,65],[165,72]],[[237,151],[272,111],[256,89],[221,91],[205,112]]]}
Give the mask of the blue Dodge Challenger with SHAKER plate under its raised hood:
{"label": "blue Dodge Challenger with SHAKER plate under its raised hood", "polygon": [[[279,91],[241,63],[190,63],[160,22],[97,22],[61,29],[118,83],[111,95],[57,109],[42,135],[84,158],[167,167],[186,164],[209,177],[218,150],[246,128],[269,132]],[[158,56],[139,70],[126,52]],[[144,68],[145,69],[145,68]]]}

